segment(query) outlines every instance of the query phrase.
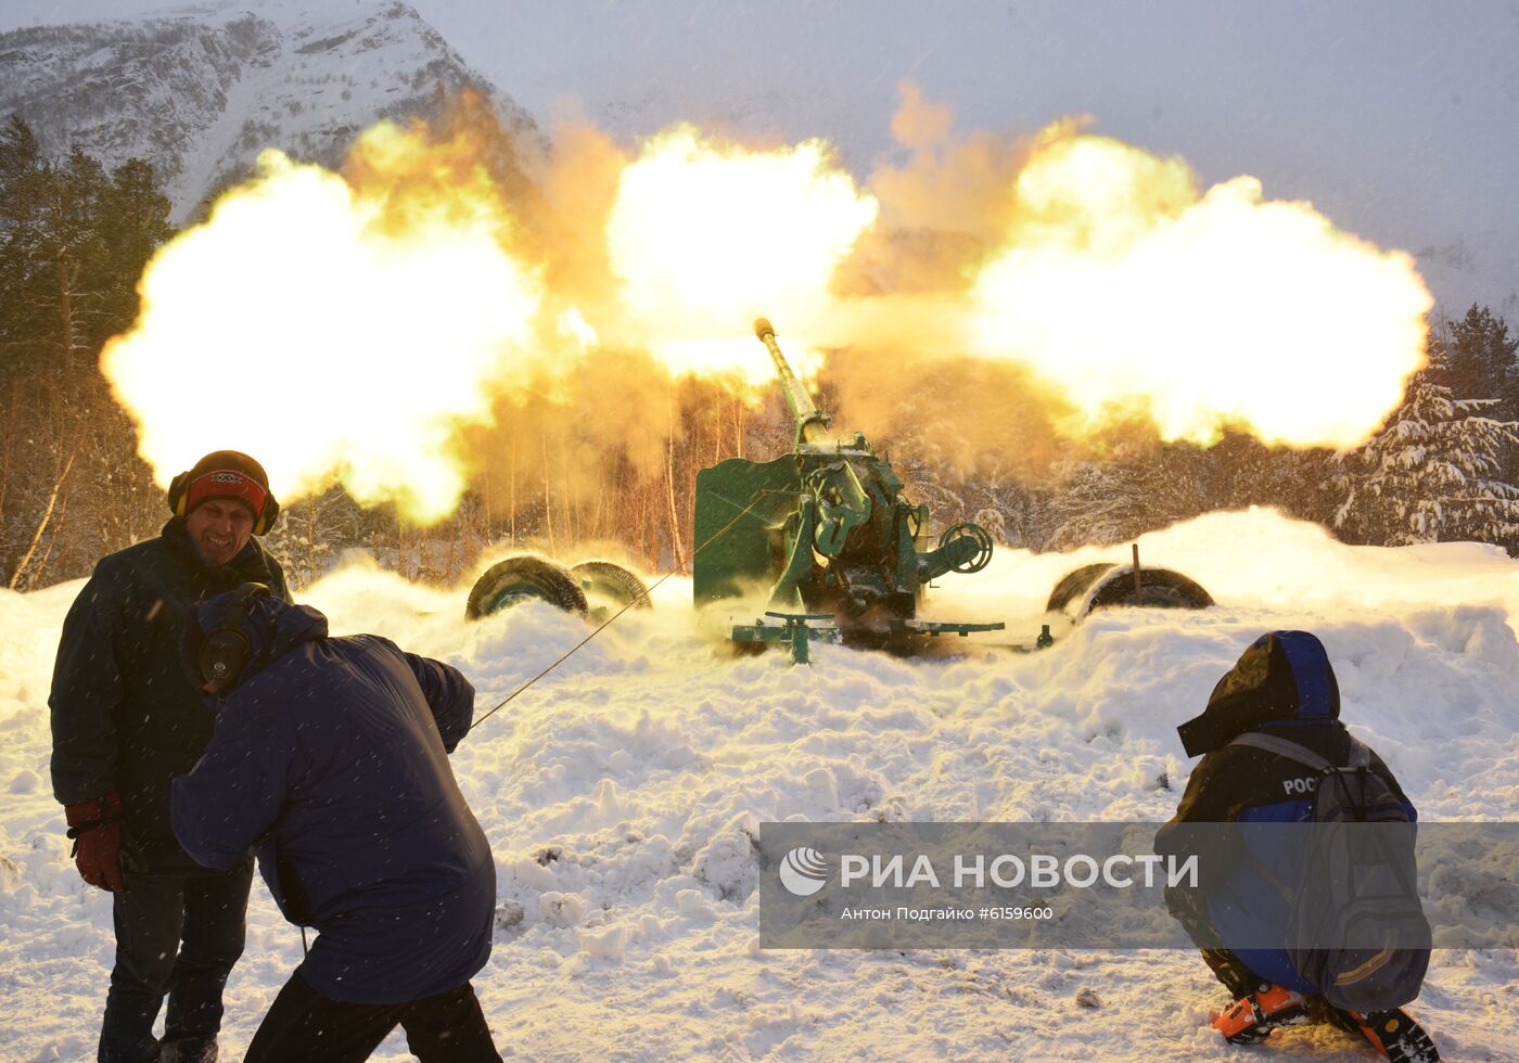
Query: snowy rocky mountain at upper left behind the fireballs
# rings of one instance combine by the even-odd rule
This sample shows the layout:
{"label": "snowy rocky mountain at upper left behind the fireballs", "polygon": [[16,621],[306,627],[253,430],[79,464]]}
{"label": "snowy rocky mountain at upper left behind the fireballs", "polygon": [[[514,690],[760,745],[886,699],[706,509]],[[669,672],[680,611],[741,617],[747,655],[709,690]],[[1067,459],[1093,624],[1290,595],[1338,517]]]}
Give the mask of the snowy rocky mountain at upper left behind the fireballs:
{"label": "snowy rocky mountain at upper left behind the fireballs", "polygon": [[404,3],[276,0],[254,14],[226,0],[18,29],[0,35],[0,115],[20,114],[53,155],[146,158],[181,222],[264,147],[336,164],[374,121],[425,114],[439,87],[482,91],[507,128],[533,128]]}

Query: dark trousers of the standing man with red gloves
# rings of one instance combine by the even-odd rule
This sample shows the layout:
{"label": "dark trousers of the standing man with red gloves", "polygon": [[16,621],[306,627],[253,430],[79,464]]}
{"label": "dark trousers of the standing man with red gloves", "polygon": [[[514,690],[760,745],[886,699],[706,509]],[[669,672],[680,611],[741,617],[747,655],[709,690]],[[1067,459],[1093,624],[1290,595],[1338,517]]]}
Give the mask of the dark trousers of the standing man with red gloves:
{"label": "dark trousers of the standing man with red gloves", "polygon": [[158,1058],[153,1020],[169,995],[164,1043],[194,1057],[222,1028],[222,989],[243,955],[254,866],[222,875],[126,875],[114,894],[115,967],[100,1024],[100,1063]]}

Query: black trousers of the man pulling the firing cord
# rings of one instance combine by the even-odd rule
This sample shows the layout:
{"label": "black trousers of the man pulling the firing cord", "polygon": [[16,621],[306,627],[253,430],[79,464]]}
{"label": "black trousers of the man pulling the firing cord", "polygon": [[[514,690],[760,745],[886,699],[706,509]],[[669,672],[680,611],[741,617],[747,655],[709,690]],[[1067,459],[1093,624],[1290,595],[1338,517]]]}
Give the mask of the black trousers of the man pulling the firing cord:
{"label": "black trousers of the man pulling the firing cord", "polygon": [[406,1004],[349,1004],[317,993],[299,967],[243,1063],[362,1063],[398,1022],[421,1063],[501,1063],[469,983]]}

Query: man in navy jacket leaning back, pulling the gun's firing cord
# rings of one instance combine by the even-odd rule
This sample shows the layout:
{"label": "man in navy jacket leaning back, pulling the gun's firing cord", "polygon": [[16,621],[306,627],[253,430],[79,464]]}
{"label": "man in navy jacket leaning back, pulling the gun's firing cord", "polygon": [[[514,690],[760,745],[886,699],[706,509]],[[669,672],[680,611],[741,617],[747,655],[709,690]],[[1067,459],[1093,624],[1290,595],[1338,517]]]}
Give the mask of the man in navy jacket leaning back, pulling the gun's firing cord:
{"label": "man in navy jacket leaning back, pulling the gun's firing cord", "polygon": [[424,1060],[500,1060],[469,978],[491,955],[495,861],[448,753],[474,686],[375,635],[328,638],[257,583],[190,610],[216,712],[173,829],[207,867],[252,846],[286,919],[319,932],[248,1063],[365,1060],[396,1024]]}

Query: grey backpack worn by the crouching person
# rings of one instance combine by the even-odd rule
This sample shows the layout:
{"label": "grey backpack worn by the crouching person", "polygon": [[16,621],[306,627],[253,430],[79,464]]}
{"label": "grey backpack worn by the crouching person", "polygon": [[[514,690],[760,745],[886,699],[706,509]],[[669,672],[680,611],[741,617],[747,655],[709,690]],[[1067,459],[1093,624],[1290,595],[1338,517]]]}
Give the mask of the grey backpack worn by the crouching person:
{"label": "grey backpack worn by the crouching person", "polygon": [[1246,732],[1230,744],[1318,771],[1302,876],[1296,890],[1284,890],[1293,967],[1349,1011],[1382,1011],[1419,996],[1431,934],[1419,902],[1414,825],[1370,770],[1372,750],[1350,738],[1350,762],[1341,768],[1276,735]]}

